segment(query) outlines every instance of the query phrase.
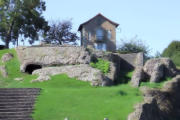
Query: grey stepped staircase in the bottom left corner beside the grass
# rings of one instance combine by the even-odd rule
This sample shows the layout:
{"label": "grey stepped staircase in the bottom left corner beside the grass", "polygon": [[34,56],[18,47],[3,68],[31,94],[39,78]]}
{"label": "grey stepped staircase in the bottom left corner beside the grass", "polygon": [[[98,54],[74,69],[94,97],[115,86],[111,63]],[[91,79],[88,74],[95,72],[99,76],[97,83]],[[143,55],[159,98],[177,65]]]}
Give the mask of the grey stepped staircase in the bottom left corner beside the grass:
{"label": "grey stepped staircase in the bottom left corner beside the grass", "polygon": [[40,88],[0,88],[0,120],[33,120]]}

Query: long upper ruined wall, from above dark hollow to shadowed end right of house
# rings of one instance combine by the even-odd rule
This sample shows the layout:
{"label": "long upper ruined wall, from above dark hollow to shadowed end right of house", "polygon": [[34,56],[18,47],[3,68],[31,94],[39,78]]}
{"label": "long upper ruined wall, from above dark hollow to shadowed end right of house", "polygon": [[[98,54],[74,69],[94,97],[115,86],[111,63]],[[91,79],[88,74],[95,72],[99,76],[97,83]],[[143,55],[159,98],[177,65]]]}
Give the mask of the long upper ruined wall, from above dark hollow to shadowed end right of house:
{"label": "long upper ruined wall, from above dark hollow to shadowed end right of house", "polygon": [[21,72],[30,74],[32,74],[34,70],[44,67],[89,64],[93,61],[93,58],[106,59],[110,61],[110,71],[106,77],[113,81],[113,83],[116,83],[119,80],[123,67],[126,69],[133,69],[135,66],[142,65],[143,63],[142,53],[121,55],[112,52],[90,51],[87,48],[75,46],[44,45],[18,47],[16,48],[16,51],[21,63]]}

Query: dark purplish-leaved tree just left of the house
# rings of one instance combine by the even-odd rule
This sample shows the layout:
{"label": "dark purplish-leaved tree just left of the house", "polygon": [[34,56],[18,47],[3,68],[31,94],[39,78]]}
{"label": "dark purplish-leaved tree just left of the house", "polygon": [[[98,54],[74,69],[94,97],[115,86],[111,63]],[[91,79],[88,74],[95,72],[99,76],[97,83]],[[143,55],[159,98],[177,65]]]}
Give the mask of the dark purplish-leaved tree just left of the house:
{"label": "dark purplish-leaved tree just left of the house", "polygon": [[71,32],[71,21],[52,22],[50,29],[44,36],[44,42],[51,44],[75,43],[79,39],[76,33]]}

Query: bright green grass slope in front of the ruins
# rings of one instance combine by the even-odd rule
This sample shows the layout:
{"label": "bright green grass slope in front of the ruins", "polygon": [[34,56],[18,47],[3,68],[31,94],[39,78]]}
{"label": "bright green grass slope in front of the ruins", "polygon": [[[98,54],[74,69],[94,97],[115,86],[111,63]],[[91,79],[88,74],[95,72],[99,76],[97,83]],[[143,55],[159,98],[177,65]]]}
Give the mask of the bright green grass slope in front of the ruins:
{"label": "bright green grass slope in front of the ruins", "polygon": [[[30,83],[37,76],[21,73],[20,63],[14,49],[1,50],[0,57],[7,52],[15,55],[5,63],[9,77],[0,77],[0,87],[42,88],[33,114],[34,120],[126,120],[133,106],[142,100],[138,89],[129,84],[114,87],[92,87],[87,82],[69,78],[66,75],[52,76],[46,82]],[[3,64],[3,63],[1,63]],[[127,77],[130,77],[127,73]],[[22,77],[23,81],[14,78]],[[124,78],[122,78],[124,79]]]}

